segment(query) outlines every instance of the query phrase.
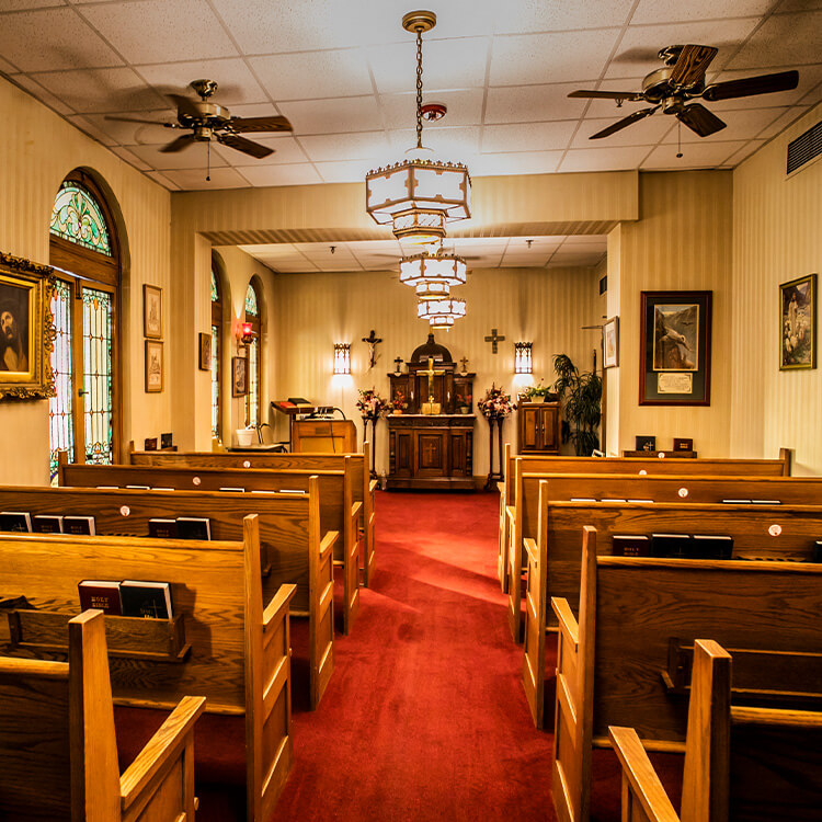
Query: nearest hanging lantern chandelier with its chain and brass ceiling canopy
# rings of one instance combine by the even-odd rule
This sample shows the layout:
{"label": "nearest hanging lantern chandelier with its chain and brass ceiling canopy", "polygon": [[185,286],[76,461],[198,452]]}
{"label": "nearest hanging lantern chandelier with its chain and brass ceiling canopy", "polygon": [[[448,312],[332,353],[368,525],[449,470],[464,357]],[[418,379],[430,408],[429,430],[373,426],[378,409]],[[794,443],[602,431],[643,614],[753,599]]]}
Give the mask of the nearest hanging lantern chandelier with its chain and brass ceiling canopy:
{"label": "nearest hanging lantern chandelier with its chain and brass ceiling canopy", "polygon": [[380,225],[392,222],[398,240],[429,243],[445,237],[445,224],[471,216],[471,179],[460,162],[433,159],[422,145],[422,35],[436,25],[433,11],[412,11],[402,27],[416,35],[416,146],[407,159],[369,171],[365,208]]}

